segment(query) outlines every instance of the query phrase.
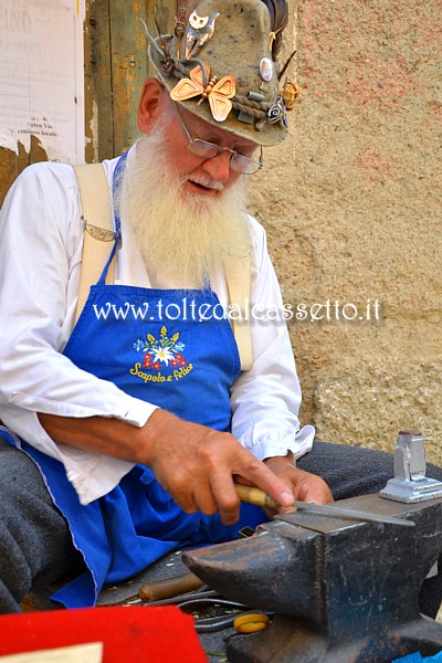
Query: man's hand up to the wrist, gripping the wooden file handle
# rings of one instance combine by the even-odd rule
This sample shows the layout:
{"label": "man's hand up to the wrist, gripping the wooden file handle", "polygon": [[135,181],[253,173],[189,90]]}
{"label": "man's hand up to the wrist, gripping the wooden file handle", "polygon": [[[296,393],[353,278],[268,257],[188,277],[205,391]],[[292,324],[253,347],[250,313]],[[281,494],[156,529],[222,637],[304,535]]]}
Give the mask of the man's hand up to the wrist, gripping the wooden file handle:
{"label": "man's hand up to the wrist, gripping the wooden file handle", "polygon": [[150,415],[145,432],[147,456],[139,462],[154,470],[162,487],[188,513],[219,511],[225,525],[235,523],[240,502],[233,476],[260,487],[282,507],[293,503],[286,476],[278,478],[230,433],[182,421],[166,410]]}

